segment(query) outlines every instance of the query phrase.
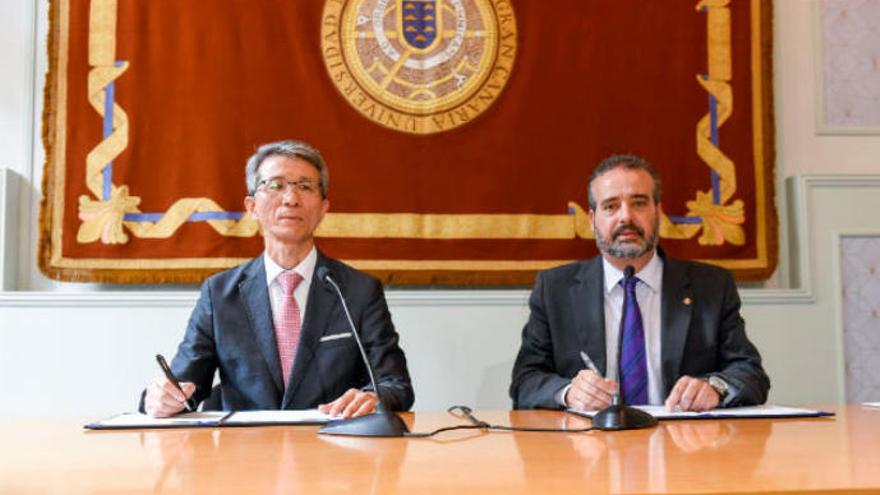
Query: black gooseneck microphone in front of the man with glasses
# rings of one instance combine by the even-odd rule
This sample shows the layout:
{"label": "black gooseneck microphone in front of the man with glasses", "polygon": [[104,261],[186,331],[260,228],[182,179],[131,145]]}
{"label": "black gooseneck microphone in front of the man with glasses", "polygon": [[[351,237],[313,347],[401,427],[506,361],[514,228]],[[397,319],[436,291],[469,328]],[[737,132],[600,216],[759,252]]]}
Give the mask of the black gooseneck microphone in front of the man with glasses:
{"label": "black gooseneck microphone in front of the man with glasses", "polygon": [[402,437],[404,434],[409,433],[409,429],[400,417],[389,412],[385,408],[385,404],[382,401],[382,394],[379,392],[379,387],[376,385],[373,366],[367,358],[367,351],[364,350],[364,344],[361,342],[360,334],[354,326],[354,320],[351,319],[351,313],[348,311],[348,304],[345,303],[345,297],[342,296],[342,290],[339,288],[339,284],[333,280],[333,275],[326,266],[319,266],[317,270],[315,270],[315,273],[318,278],[327,284],[329,288],[332,288],[339,297],[339,302],[342,305],[342,310],[345,312],[346,319],[348,319],[348,325],[351,328],[354,341],[357,343],[358,350],[361,352],[361,359],[364,361],[364,366],[367,367],[367,374],[370,376],[370,384],[373,386],[373,392],[376,394],[377,402],[376,411],[372,414],[359,416],[357,418],[331,421],[318,430],[318,433],[359,437]]}

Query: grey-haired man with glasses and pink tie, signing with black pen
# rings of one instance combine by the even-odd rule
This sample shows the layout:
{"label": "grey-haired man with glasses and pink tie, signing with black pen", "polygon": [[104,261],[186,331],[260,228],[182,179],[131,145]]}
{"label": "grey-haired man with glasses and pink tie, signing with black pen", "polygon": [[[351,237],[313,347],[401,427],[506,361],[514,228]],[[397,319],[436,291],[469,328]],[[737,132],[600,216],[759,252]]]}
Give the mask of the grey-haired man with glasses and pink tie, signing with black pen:
{"label": "grey-haired man with glasses and pink tie, signing with black pen", "polygon": [[202,284],[171,362],[181,388],[156,378],[141,410],[167,417],[190,398],[198,404],[211,394],[219,371],[224,410],[373,412],[367,370],[337,295],[317,279],[319,269],[345,293],[386,407],[409,409],[406,358],[381,284],[315,247],[315,229],[330,206],[320,153],[298,141],[262,145],[248,159],[245,180],[244,205],[260,224],[265,251]]}

